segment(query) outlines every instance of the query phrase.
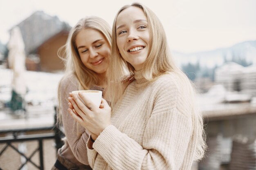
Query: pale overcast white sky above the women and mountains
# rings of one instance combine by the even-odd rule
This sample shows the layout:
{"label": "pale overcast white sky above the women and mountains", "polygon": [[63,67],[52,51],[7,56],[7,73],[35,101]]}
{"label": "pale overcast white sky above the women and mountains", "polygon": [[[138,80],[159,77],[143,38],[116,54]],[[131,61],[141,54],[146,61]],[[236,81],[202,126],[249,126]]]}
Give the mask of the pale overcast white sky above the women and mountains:
{"label": "pale overcast white sky above the women and mountains", "polygon": [[0,0],[0,41],[7,43],[8,30],[38,10],[70,26],[88,15],[112,26],[117,11],[132,2],[155,12],[172,51],[207,51],[256,40],[256,0]]}

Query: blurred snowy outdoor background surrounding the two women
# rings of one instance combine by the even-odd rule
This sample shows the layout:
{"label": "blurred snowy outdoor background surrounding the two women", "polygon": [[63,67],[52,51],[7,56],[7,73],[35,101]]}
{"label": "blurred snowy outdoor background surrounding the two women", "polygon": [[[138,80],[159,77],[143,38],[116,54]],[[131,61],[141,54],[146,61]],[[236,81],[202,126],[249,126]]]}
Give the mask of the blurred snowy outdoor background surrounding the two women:
{"label": "blurred snowy outdoor background surrounding the two women", "polygon": [[[0,170],[50,169],[61,146],[57,56],[72,26],[112,26],[133,0],[0,0]],[[197,170],[256,170],[256,1],[138,0],[161,20],[172,55],[194,82],[208,150]]]}

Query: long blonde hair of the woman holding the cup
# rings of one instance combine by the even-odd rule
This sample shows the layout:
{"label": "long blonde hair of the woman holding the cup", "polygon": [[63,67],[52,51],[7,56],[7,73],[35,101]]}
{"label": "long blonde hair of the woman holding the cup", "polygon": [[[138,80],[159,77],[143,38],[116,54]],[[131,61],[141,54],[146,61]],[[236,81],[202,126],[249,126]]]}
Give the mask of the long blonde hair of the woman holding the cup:
{"label": "long blonde hair of the woman holding the cup", "polygon": [[150,31],[149,53],[144,63],[142,74],[149,82],[155,81],[160,75],[167,74],[168,72],[178,75],[177,77],[179,77],[180,85],[183,87],[182,89],[185,90],[184,93],[189,95],[191,99],[189,100],[189,104],[193,111],[193,124],[194,127],[196,127],[195,132],[196,138],[198,139],[195,160],[202,159],[204,150],[206,148],[205,132],[203,129],[202,114],[197,110],[195,105],[195,90],[193,84],[182,72],[182,70],[175,64],[169,51],[166,34],[160,20],[157,18],[155,13],[153,13],[153,11],[140,3],[133,3],[132,5],[122,7],[117,12],[112,26],[112,54],[110,58],[110,67],[108,69],[108,88],[111,93],[110,101],[112,102],[112,106],[115,106],[115,103],[122,98],[124,93],[125,86],[120,81],[120,77],[124,77],[127,71],[132,75],[134,75],[135,72],[135,68],[130,63],[126,62],[119,53],[116,39],[117,17],[124,9],[131,6],[139,7],[142,9],[142,11],[144,11],[144,14],[148,20],[148,29]]}

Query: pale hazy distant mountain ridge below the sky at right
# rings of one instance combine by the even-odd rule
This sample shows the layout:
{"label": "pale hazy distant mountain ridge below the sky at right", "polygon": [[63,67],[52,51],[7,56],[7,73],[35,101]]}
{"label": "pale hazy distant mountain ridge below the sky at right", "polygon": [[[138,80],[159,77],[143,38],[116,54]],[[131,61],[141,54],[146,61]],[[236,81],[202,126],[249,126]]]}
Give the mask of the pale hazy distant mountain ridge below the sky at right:
{"label": "pale hazy distant mountain ridge below the sky at right", "polygon": [[241,42],[228,48],[212,51],[197,53],[180,53],[174,51],[173,57],[180,66],[199,62],[200,67],[213,68],[222,65],[225,61],[231,61],[232,59],[242,59],[248,63],[256,64],[256,40]]}

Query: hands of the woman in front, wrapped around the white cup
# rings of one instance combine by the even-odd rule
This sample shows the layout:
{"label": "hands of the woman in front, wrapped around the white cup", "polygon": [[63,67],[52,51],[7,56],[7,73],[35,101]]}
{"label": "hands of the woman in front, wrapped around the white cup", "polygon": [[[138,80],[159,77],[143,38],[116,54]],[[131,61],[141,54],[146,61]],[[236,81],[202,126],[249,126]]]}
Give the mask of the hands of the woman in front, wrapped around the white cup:
{"label": "hands of the woman in front, wrapped around the white cup", "polygon": [[[88,97],[83,95],[83,93],[79,93],[79,96],[86,105],[83,104],[77,95],[72,94],[72,97],[68,99],[74,111],[69,108],[68,112],[81,126],[99,136],[100,133],[111,124],[111,108],[105,99],[101,99],[101,108],[98,108]],[[79,116],[76,115],[76,113]]]}

